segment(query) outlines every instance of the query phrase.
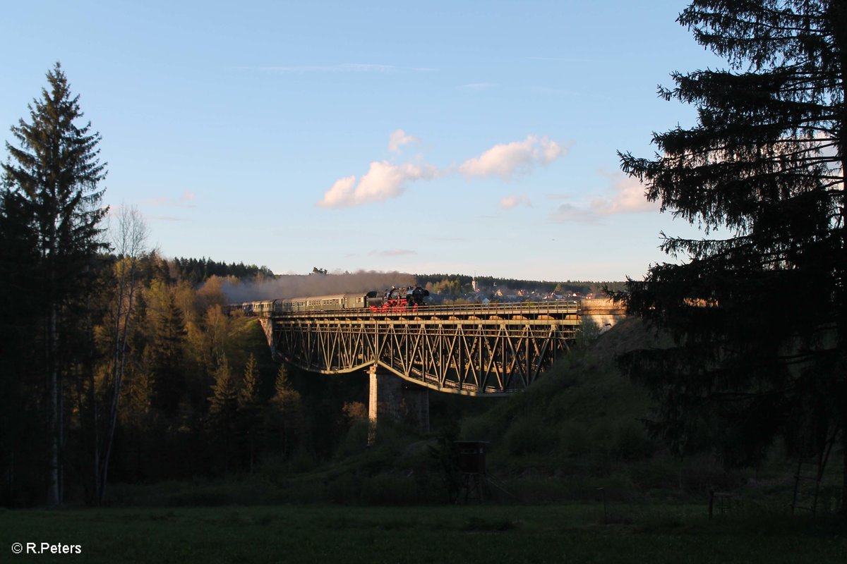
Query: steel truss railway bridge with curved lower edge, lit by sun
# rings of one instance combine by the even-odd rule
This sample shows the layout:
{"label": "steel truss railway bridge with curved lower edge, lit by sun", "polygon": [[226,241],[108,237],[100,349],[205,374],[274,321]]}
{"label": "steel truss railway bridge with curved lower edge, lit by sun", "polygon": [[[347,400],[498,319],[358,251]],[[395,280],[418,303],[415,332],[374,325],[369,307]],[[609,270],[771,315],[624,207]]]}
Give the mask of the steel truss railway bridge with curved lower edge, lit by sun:
{"label": "steel truss railway bridge with curved lower edge, lit by sun", "polygon": [[344,374],[388,370],[439,392],[520,392],[569,351],[578,302],[369,309],[259,317],[275,359]]}

